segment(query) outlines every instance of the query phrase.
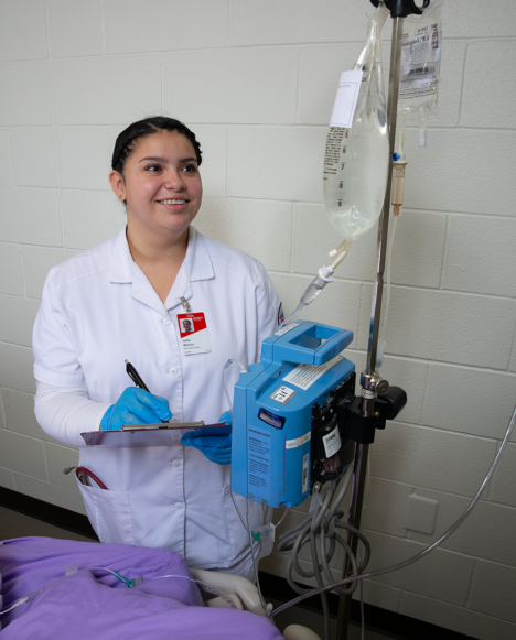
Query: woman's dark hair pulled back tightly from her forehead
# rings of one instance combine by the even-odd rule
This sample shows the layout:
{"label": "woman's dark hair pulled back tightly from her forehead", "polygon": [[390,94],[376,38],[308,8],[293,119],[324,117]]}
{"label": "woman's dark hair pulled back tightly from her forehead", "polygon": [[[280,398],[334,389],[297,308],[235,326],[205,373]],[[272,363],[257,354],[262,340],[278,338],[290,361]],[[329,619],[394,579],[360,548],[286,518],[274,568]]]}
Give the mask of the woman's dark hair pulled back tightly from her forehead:
{"label": "woman's dark hair pulled back tightly from her forehead", "polygon": [[178,131],[178,133],[187,138],[195,150],[197,164],[201,165],[203,161],[201,158],[201,144],[197,142],[195,133],[179,120],[166,118],[165,116],[153,116],[152,118],[144,118],[143,120],[129,124],[118,135],[115,142],[115,149],[112,150],[111,167],[122,174],[127,160],[135,151],[137,141],[140,138],[152,135],[152,133],[159,133],[160,131]]}

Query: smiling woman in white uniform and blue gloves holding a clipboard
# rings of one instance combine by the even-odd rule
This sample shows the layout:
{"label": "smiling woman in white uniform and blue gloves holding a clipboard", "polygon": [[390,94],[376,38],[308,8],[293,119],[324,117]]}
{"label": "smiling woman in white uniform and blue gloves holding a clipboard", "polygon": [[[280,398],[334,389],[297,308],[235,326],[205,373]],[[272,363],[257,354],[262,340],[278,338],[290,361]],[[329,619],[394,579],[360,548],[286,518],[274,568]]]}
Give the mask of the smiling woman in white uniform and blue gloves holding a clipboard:
{"label": "smiling woman in white uniform and blue gloves holding a clipboard", "polygon": [[[127,226],[46,279],[33,334],[35,415],[49,435],[78,446],[80,466],[107,487],[79,484],[101,542],[166,547],[192,567],[254,579],[234,503],[245,514],[245,499],[230,490],[230,426],[143,448],[86,447],[80,436],[168,420],[217,423],[229,409],[224,365],[259,360],[278,327],[280,301],[261,263],[192,226],[201,161],[194,133],[170,118],[118,137],[109,181]],[[206,330],[183,339],[186,314]],[[150,392],[133,386],[125,360]],[[261,505],[248,509],[251,529],[270,520]]]}

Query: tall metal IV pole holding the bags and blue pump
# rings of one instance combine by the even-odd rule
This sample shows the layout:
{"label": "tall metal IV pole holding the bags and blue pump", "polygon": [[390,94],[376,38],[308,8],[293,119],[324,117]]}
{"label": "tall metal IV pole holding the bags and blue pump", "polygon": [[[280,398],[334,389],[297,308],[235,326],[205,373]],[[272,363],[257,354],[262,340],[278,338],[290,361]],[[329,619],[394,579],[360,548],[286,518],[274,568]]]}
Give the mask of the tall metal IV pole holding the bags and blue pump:
{"label": "tall metal IV pole holding the bags and blue pump", "polygon": [[[370,0],[378,7],[379,0]],[[401,62],[401,36],[404,18],[411,13],[422,13],[413,0],[386,0],[386,7],[390,10],[393,18],[393,36],[390,44],[390,70],[389,91],[387,100],[387,128],[389,131],[389,170],[387,178],[387,191],[385,194],[384,208],[378,221],[378,245],[375,285],[373,290],[373,305],[370,316],[369,345],[367,350],[366,370],[361,376],[362,386],[362,414],[364,417],[375,415],[375,400],[377,395],[384,394],[388,390],[388,382],[383,380],[376,372],[376,354],[378,348],[378,335],[380,326],[381,300],[384,294],[384,271],[385,258],[387,253],[387,235],[390,215],[390,189],[393,181],[393,153],[396,141],[396,121],[398,112],[398,90],[399,90],[399,68]],[[428,7],[430,0],[423,0],[423,7]],[[364,488],[366,480],[367,458],[369,455],[369,444],[356,443],[355,460],[353,466],[353,485],[350,503],[348,523],[355,529],[361,529],[362,508],[364,501]],[[347,544],[356,556],[358,538],[353,533],[347,535]],[[343,578],[351,575],[351,562],[347,558],[342,574]],[[341,596],[338,605],[338,620],[336,629],[336,640],[346,640],[350,627],[352,596]]]}

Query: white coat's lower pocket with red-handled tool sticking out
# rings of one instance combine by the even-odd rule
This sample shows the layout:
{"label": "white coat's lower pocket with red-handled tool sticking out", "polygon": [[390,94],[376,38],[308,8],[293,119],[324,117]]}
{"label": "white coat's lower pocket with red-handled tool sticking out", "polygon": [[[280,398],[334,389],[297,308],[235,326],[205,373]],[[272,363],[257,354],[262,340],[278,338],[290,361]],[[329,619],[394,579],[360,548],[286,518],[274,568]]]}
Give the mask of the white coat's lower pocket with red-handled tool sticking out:
{"label": "white coat's lower pocket with red-handled tool sticking out", "polygon": [[129,493],[78,482],[89,522],[105,544],[136,544]]}

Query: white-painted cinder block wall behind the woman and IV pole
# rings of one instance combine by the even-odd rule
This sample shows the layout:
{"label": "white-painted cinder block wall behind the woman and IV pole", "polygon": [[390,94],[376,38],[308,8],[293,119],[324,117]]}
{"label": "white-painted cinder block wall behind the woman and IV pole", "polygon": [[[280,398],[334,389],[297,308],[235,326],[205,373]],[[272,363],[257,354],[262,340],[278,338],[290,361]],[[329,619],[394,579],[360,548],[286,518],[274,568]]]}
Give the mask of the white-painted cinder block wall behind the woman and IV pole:
{"label": "white-painted cinder block wall behind the woman and IV pole", "polygon": [[[123,225],[107,181],[117,133],[157,113],[196,131],[197,228],[259,258],[290,312],[337,243],[322,206],[325,133],[370,11],[367,0],[0,1],[0,485],[84,512],[62,474],[76,452],[33,417],[31,329],[49,269]],[[445,1],[428,147],[407,129],[383,373],[409,404],[372,451],[373,568],[456,519],[515,402],[515,59],[513,0]],[[303,314],[353,329],[357,369],[375,245],[374,231],[358,240]],[[420,564],[368,582],[366,601],[475,638],[514,638],[515,464],[513,437],[463,528]],[[412,493],[439,501],[434,535],[405,528]],[[273,553],[262,566],[281,574],[284,564]]]}

